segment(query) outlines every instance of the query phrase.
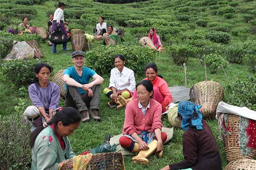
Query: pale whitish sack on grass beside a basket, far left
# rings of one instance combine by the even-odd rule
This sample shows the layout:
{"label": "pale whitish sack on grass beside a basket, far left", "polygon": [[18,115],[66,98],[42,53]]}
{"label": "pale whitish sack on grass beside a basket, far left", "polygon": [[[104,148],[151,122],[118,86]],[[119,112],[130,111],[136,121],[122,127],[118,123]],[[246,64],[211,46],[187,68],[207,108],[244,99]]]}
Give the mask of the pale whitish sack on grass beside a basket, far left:
{"label": "pale whitish sack on grass beside a basket, far left", "polygon": [[[15,43],[16,41],[14,41]],[[29,59],[34,57],[34,49],[25,41],[14,45],[12,51],[3,60]]]}

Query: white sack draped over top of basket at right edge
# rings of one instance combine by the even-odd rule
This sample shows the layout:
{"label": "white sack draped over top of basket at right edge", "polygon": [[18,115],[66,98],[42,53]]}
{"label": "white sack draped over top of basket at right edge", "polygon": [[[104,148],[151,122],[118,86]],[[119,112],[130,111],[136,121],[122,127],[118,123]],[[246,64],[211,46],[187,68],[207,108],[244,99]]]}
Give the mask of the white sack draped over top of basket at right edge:
{"label": "white sack draped over top of basket at right edge", "polygon": [[219,116],[222,113],[228,113],[228,114],[242,116],[242,117],[256,120],[256,112],[253,110],[250,110],[247,107],[237,107],[237,106],[229,105],[224,102],[219,102],[216,110],[216,119],[219,119]]}

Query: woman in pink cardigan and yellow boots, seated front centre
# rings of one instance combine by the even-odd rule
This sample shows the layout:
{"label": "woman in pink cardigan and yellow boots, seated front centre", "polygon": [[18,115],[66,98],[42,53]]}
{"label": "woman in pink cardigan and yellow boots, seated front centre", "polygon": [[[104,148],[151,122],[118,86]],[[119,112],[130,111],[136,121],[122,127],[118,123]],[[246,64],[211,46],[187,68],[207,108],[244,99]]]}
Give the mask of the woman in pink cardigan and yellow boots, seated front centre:
{"label": "woman in pink cardigan and yellow boots, seated front centre", "polygon": [[142,80],[136,85],[137,98],[129,102],[125,109],[123,135],[120,145],[130,152],[139,152],[132,160],[149,163],[147,157],[154,152],[163,155],[163,143],[167,135],[162,130],[161,105],[153,99],[153,84]]}

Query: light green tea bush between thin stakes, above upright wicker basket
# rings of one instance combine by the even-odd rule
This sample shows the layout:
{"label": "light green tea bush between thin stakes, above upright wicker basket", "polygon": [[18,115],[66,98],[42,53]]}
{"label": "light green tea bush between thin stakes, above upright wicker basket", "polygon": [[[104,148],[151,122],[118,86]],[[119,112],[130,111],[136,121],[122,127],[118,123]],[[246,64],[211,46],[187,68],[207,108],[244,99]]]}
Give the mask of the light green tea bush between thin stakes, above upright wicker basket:
{"label": "light green tea bush between thin stakes, above upright wicker basket", "polygon": [[206,64],[206,66],[210,69],[211,74],[216,74],[217,69],[221,68],[221,64],[223,67],[225,67],[228,62],[225,59],[225,57],[222,57],[221,55],[217,54],[208,54],[208,55],[203,55],[203,63]]}

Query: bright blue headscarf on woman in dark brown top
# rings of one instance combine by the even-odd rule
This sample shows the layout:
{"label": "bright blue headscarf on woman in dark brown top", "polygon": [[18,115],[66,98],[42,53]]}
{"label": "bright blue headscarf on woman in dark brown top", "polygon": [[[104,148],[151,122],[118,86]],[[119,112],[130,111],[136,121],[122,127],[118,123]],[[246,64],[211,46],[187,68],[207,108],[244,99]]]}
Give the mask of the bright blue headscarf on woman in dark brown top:
{"label": "bright blue headscarf on woman in dark brown top", "polygon": [[[186,131],[190,127],[196,127],[198,130],[203,129],[203,123],[202,123],[202,118],[203,115],[199,111],[199,108],[201,108],[202,105],[196,105],[193,102],[179,102],[178,104],[178,113],[182,116],[181,120],[181,128]],[[196,111],[198,116],[195,116],[193,112]],[[192,117],[190,125],[190,118]]]}

